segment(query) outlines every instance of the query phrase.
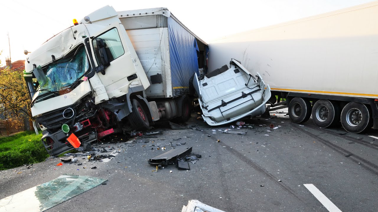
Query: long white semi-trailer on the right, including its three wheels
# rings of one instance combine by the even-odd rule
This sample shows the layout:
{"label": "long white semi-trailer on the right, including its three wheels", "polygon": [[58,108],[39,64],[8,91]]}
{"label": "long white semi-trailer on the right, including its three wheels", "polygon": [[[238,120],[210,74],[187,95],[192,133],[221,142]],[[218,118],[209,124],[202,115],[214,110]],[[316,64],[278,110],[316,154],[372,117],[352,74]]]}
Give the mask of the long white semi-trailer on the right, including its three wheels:
{"label": "long white semi-trailer on the right, including its three wheels", "polygon": [[295,123],[378,129],[377,20],[372,2],[227,36],[209,44],[209,70],[232,56],[260,72]]}

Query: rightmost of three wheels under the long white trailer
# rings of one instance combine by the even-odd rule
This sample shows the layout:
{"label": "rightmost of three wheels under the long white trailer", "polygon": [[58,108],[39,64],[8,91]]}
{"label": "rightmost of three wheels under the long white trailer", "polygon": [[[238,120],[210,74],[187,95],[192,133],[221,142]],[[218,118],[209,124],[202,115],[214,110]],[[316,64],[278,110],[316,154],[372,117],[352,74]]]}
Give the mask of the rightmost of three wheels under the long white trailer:
{"label": "rightmost of three wheels under the long white trailer", "polygon": [[341,111],[342,127],[350,133],[361,133],[373,126],[372,112],[365,104],[350,102]]}

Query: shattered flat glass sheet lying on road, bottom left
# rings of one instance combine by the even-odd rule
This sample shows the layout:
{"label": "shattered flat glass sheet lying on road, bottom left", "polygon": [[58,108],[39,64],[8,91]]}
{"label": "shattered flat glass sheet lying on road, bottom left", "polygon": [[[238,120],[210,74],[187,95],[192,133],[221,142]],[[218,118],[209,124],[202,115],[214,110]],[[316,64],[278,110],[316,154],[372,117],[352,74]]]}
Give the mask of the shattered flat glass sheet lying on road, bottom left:
{"label": "shattered flat glass sheet lying on road, bottom left", "polygon": [[55,180],[0,200],[0,211],[42,212],[105,182],[106,179],[64,174]]}

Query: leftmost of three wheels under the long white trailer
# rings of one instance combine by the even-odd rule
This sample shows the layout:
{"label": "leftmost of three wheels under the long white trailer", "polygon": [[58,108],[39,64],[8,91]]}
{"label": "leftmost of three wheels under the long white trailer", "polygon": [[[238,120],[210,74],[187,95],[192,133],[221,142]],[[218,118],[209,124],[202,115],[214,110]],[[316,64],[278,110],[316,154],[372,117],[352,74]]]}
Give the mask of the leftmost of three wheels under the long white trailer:
{"label": "leftmost of three wheels under the long white trailer", "polygon": [[305,122],[311,116],[311,103],[307,99],[295,97],[290,100],[288,112],[294,123]]}

